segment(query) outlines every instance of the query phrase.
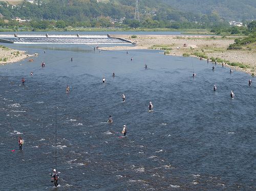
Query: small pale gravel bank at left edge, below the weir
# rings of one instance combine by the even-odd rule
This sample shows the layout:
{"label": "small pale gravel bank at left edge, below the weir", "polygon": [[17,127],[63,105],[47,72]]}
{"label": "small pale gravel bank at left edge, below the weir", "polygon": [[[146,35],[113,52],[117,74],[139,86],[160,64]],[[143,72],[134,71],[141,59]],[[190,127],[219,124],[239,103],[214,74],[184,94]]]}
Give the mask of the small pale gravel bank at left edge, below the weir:
{"label": "small pale gravel bank at left edge, below the weir", "polygon": [[9,49],[8,47],[0,45],[0,65],[18,62],[31,56],[33,55],[28,55],[25,51]]}

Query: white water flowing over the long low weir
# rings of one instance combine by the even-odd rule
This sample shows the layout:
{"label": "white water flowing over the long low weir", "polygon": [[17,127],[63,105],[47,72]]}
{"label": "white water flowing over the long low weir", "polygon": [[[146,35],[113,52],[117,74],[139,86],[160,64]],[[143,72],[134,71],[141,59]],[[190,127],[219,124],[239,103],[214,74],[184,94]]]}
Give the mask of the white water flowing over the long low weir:
{"label": "white water flowing over the long low weir", "polygon": [[0,42],[22,44],[131,44],[131,41],[110,35],[79,34],[0,34]]}

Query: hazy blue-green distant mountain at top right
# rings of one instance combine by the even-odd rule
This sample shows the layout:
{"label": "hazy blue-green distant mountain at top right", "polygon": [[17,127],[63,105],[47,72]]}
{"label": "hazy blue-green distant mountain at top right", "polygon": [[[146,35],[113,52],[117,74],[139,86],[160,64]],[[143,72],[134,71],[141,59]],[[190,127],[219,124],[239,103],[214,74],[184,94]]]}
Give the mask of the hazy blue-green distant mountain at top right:
{"label": "hazy blue-green distant mountain at top right", "polygon": [[256,0],[162,0],[184,12],[218,13],[229,20],[256,19]]}

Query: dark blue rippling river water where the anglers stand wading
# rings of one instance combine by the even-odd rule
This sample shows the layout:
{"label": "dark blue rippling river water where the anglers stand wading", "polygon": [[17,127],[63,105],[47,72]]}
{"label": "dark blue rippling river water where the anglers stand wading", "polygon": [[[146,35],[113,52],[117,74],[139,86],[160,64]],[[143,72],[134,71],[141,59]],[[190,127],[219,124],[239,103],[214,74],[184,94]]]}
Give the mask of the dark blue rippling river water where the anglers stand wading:
{"label": "dark blue rippling river water where the anglers stand wading", "polygon": [[55,104],[58,190],[256,189],[256,88],[249,75],[154,50],[7,46],[39,56],[0,66],[3,189],[55,190]]}

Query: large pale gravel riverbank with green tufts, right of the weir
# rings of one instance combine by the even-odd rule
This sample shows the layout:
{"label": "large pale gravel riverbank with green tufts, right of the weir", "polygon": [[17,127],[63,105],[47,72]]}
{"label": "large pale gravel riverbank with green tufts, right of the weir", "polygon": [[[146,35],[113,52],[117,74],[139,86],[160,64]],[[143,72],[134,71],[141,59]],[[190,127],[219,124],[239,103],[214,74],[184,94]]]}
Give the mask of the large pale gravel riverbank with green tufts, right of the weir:
{"label": "large pale gravel riverbank with green tufts, right of the weir", "polygon": [[[111,35],[136,42],[135,46],[100,47],[101,50],[136,50],[156,49],[163,50],[165,55],[207,57],[224,61],[225,66],[248,74],[256,73],[256,50],[227,50],[236,36],[199,36],[199,35]],[[203,59],[202,58],[202,59]]]}

